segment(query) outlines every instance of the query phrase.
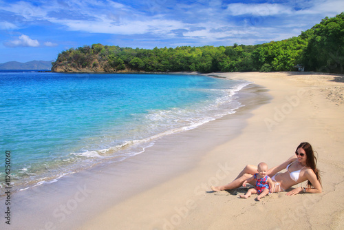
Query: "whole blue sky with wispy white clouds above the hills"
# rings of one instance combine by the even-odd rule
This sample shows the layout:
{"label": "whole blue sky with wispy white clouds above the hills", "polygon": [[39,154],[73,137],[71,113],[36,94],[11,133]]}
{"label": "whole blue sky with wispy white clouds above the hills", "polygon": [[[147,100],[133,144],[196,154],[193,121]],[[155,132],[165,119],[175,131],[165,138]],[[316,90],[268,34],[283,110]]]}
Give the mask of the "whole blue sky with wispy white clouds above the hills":
{"label": "whole blue sky with wispy white clouds above the hills", "polygon": [[51,61],[94,43],[254,45],[298,36],[343,11],[343,0],[0,0],[0,63]]}

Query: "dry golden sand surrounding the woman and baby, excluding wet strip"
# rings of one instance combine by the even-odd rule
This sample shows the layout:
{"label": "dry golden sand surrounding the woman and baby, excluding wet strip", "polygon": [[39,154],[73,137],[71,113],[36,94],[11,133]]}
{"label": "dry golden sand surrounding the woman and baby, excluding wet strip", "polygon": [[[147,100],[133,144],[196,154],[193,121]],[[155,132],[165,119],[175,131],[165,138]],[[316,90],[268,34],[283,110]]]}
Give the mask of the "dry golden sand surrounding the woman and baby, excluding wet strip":
{"label": "dry golden sand surrounding the woman and baby, excluding wet strip", "polygon": [[[266,87],[272,100],[253,109],[242,132],[208,150],[195,168],[124,200],[78,229],[246,229],[261,221],[266,222],[261,229],[341,229],[343,79],[321,74],[219,75]],[[323,193],[286,196],[281,192],[255,202],[237,198],[246,189],[207,192],[209,185],[233,180],[247,164],[282,163],[302,141],[310,142],[318,153]]]}

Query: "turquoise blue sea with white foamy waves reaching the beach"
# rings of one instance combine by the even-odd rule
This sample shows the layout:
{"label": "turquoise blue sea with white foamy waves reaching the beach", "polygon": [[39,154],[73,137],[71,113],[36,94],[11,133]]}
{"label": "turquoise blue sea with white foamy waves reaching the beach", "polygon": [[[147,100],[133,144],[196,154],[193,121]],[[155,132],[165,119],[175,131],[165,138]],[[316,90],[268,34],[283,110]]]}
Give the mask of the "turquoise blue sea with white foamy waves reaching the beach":
{"label": "turquoise blue sea with white foamy waves reaching the beach", "polygon": [[0,187],[125,160],[164,136],[235,113],[247,81],[182,74],[0,72]]}

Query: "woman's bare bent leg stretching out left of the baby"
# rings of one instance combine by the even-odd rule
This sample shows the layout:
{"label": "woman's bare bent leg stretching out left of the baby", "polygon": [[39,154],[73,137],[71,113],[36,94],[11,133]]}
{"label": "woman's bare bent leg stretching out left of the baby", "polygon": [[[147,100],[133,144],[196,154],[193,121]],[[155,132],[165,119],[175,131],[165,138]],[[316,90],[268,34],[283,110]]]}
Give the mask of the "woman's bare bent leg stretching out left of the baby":
{"label": "woman's bare bent leg stretching out left of the baby", "polygon": [[227,185],[222,186],[211,186],[211,189],[213,191],[222,191],[222,190],[228,190],[228,189],[236,189],[242,185],[242,183],[250,178],[253,174],[257,174],[257,166],[255,165],[246,165],[244,169],[240,172],[240,174]]}

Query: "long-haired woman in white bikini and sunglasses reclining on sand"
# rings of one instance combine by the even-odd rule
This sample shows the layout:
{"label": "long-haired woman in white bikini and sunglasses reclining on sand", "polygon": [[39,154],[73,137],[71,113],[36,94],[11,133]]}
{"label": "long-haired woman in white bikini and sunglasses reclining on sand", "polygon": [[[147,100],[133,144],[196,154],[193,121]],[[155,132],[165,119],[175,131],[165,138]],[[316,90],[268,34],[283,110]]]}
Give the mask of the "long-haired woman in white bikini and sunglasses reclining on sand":
{"label": "long-haired woman in white bikini and sunglasses reclining on sand", "polygon": [[[279,171],[287,169],[287,171],[280,173]],[[222,191],[227,189],[235,189],[240,187],[242,183],[248,178],[252,177],[253,174],[257,173],[257,167],[255,165],[246,165],[243,171],[228,185],[222,186],[211,186],[213,191]],[[286,160],[285,163],[277,167],[273,167],[268,170],[268,176],[275,183],[275,191],[286,191],[290,187],[297,185],[305,180],[308,180],[307,187],[297,187],[289,191],[286,195],[293,196],[301,192],[305,193],[321,193],[321,178],[319,170],[316,168],[316,157],[310,143],[301,143],[295,155]],[[255,181],[252,182],[254,185]]]}

